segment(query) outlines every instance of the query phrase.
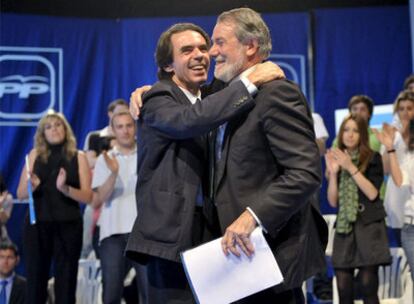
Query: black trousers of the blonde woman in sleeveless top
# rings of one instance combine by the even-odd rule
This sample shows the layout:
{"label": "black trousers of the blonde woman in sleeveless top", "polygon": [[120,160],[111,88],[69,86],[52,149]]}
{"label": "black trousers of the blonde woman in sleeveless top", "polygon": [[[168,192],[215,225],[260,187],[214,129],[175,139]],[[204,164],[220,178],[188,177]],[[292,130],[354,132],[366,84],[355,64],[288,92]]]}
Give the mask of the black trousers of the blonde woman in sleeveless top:
{"label": "black trousers of the blonde woman in sleeveless top", "polygon": [[27,276],[27,304],[44,304],[53,262],[57,304],[76,302],[78,261],[82,250],[82,219],[69,222],[27,221],[23,249]]}

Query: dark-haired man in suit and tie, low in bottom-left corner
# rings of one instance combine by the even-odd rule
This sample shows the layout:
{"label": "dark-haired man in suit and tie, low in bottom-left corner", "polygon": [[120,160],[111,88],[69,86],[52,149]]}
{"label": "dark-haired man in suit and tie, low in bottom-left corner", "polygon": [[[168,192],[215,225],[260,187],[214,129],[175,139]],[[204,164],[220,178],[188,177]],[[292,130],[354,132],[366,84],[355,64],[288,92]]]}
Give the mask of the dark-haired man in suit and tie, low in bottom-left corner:
{"label": "dark-haired man in suit and tie, low in bottom-left corner", "polygon": [[11,242],[0,243],[0,304],[24,304],[26,279],[14,272],[19,251]]}

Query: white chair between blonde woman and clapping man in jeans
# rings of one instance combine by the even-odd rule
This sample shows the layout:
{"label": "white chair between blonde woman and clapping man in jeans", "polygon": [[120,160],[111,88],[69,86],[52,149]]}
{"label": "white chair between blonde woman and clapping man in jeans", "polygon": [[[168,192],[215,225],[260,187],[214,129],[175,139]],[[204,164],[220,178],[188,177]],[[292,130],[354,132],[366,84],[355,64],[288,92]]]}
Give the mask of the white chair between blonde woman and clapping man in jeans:
{"label": "white chair between blonde woman and clapping man in jeans", "polygon": [[100,303],[100,294],[102,292],[101,281],[101,265],[99,260],[80,259],[76,288],[76,303]]}

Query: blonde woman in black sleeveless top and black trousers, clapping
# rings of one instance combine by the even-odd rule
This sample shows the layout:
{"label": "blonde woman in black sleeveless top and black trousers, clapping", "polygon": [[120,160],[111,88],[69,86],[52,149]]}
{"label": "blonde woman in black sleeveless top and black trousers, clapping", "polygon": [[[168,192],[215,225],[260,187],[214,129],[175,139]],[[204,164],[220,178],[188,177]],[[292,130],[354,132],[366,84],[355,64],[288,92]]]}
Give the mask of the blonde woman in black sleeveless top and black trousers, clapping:
{"label": "blonde woman in black sleeveless top and black trousers, clapping", "polygon": [[[82,247],[79,202],[92,199],[86,157],[65,117],[48,113],[39,122],[29,154],[36,224],[24,223],[23,248],[27,274],[27,303],[44,304],[52,261],[56,303],[75,303],[78,260]],[[26,199],[27,171],[17,189]]]}

